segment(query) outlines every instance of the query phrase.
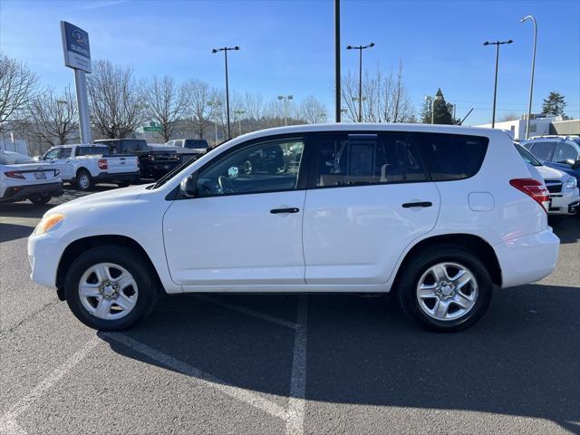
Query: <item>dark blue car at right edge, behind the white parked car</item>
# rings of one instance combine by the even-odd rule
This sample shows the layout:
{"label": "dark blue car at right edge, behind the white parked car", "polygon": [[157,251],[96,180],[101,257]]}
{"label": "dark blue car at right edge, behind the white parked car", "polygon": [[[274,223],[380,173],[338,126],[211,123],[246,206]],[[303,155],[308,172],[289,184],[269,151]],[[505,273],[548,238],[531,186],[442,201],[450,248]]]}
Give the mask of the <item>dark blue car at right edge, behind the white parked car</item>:
{"label": "dark blue car at right edge, behind the white parked car", "polygon": [[544,165],[570,174],[580,185],[580,138],[542,136],[520,143]]}

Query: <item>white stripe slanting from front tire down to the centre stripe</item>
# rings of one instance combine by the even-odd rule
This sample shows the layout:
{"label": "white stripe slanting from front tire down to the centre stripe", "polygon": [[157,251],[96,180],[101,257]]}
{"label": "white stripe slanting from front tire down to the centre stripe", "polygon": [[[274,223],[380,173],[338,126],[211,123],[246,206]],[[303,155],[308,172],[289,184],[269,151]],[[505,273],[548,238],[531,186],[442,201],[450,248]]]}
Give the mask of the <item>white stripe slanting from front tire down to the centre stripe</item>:
{"label": "white stripe slanting from front tire down to the centre stripe", "polygon": [[283,408],[276,405],[273,401],[264,399],[262,396],[255,392],[235,387],[221,379],[218,379],[212,374],[200,371],[199,369],[189,365],[187,362],[179,361],[166,353],[162,353],[146,344],[133,340],[132,338],[122,333],[103,333],[103,335],[106,335],[116,342],[130,347],[134,351],[149,356],[152,360],[162,363],[163,365],[169,367],[171,370],[187,374],[192,378],[196,378],[198,381],[205,383],[209,387],[221,391],[224,394],[233,397],[234,399],[237,399],[237,401],[246,402],[258,410],[265,411],[274,417],[285,420],[286,411]]}

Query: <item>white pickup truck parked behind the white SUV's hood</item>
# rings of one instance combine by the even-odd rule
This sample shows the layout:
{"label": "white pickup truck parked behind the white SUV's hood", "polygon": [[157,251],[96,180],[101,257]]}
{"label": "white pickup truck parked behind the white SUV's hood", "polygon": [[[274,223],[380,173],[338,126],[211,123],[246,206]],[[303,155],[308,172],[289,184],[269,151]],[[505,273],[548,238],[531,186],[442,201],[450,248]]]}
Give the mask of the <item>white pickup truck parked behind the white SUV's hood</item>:
{"label": "white pickup truck parked behind the white SUV's hood", "polygon": [[63,181],[81,190],[91,190],[95,184],[103,182],[125,187],[140,177],[137,156],[111,156],[104,145],[58,145],[38,160],[55,165]]}

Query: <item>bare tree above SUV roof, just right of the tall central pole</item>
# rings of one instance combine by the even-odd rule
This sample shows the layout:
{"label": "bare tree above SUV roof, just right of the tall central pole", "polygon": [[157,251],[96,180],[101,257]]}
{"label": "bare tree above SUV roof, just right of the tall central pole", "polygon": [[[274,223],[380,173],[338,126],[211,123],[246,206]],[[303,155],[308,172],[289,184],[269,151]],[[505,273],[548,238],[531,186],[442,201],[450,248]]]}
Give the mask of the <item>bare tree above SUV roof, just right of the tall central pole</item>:
{"label": "bare tree above SUV roof, just right of the tall central pole", "polygon": [[[341,89],[345,117],[358,121],[358,77],[347,73]],[[368,72],[362,79],[362,121],[364,122],[415,122],[415,111],[409,92],[402,82],[402,63],[397,73],[383,76],[377,69],[374,76]]]}

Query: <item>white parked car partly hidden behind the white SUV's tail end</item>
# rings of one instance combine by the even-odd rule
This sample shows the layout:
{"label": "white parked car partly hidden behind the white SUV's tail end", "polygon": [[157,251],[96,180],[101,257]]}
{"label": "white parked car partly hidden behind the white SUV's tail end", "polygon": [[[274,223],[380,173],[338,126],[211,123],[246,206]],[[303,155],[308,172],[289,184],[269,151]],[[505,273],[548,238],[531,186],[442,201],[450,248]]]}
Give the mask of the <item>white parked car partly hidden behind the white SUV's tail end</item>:
{"label": "white parked car partly hidden behind the white SUV's tail end", "polygon": [[516,149],[522,159],[536,169],[546,183],[546,188],[550,192],[550,205],[547,211],[549,221],[557,224],[566,216],[575,215],[580,208],[580,191],[576,179],[561,170],[542,165],[521,145],[516,145]]}

